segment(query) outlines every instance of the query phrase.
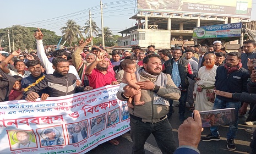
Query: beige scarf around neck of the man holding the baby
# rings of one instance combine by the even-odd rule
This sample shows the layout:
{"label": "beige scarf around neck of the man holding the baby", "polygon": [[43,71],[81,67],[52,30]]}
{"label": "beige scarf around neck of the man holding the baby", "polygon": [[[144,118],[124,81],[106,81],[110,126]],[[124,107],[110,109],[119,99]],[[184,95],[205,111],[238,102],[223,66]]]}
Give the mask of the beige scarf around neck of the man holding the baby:
{"label": "beige scarf around neck of the man holding the baby", "polygon": [[[141,67],[137,70],[137,72],[135,72],[136,74],[136,79],[139,82],[140,81],[140,75],[145,75],[146,77],[149,78],[149,80],[152,82],[152,79],[156,78],[155,81],[155,85],[157,86],[164,86],[167,84],[167,76],[164,73],[160,73],[159,75],[151,75],[148,72],[146,72],[146,70]],[[169,100],[167,98],[161,97],[159,95],[157,95],[154,92],[154,96],[153,96],[153,104],[154,105],[164,105],[164,106],[170,106]]]}

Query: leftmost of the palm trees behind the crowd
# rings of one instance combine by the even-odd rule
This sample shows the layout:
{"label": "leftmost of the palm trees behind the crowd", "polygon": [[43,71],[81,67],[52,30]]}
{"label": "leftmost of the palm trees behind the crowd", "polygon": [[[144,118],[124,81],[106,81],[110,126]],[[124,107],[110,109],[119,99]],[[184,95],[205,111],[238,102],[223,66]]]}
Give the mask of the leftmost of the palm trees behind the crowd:
{"label": "leftmost of the palm trees behind the crowd", "polygon": [[78,40],[78,36],[83,37],[81,34],[81,26],[75,23],[74,20],[68,20],[66,25],[67,26],[61,27],[59,30],[61,30],[64,40],[67,40],[69,46],[71,46],[74,41]]}

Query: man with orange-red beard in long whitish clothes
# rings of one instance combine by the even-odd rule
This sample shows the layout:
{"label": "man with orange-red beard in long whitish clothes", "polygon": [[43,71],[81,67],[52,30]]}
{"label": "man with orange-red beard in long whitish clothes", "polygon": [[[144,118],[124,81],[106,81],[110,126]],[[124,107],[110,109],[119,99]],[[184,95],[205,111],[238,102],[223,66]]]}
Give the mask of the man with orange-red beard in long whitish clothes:
{"label": "man with orange-red beard in long whitish clothes", "polygon": [[216,56],[213,53],[206,54],[204,66],[198,71],[199,81],[195,83],[194,97],[195,109],[198,111],[208,111],[213,109],[214,99],[210,94],[214,90],[217,66],[215,65]]}

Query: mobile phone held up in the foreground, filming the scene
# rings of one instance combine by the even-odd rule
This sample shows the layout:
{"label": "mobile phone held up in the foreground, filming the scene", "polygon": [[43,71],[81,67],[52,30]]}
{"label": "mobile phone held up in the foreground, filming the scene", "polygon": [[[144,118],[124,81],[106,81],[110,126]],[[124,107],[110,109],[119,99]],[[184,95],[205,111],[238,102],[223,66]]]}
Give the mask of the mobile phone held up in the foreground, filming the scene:
{"label": "mobile phone held up in the foreground, filming the scene", "polygon": [[[203,128],[230,125],[236,122],[235,108],[215,109],[199,113]],[[194,118],[194,113],[192,113],[192,118]]]}

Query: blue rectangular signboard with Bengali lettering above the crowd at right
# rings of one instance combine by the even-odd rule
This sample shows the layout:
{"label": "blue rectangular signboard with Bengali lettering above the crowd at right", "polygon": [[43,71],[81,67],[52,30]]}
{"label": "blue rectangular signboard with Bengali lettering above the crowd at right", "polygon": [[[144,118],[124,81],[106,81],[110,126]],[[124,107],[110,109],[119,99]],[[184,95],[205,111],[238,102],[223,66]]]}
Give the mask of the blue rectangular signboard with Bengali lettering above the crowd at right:
{"label": "blue rectangular signboard with Bengali lettering above the crowd at right", "polygon": [[217,38],[241,36],[242,23],[194,27],[193,38]]}

